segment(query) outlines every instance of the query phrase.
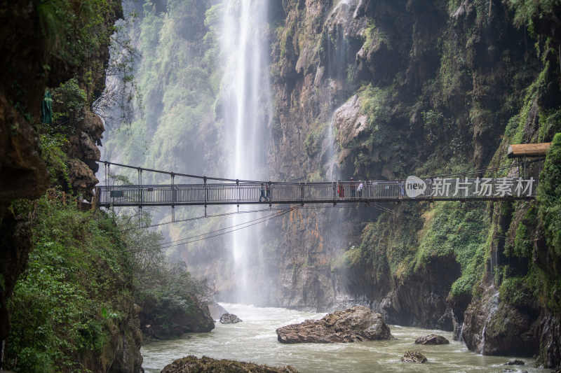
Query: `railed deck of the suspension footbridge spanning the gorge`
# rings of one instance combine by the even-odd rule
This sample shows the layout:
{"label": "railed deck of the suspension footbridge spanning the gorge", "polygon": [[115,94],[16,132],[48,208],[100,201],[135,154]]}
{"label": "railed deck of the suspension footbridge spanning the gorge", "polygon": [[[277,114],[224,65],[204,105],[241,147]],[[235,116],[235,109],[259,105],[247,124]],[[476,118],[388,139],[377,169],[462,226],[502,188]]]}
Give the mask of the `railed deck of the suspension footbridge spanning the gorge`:
{"label": "railed deck of the suspension footbridge spanning the gorge", "polygon": [[[405,181],[316,183],[203,183],[119,185],[95,188],[97,206],[180,206],[218,204],[318,204],[533,199],[536,181],[521,178],[434,178],[408,197]],[[360,188],[359,185],[362,185]],[[359,190],[361,189],[361,190]]]}

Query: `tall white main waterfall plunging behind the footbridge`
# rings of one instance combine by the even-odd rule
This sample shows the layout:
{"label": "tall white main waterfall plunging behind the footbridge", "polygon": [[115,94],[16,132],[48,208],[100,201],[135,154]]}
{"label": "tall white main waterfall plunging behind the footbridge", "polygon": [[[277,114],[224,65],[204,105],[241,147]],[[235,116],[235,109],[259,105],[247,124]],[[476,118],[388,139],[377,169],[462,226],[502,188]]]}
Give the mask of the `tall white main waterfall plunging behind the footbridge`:
{"label": "tall white main waterfall plunging behind the footbridge", "polygon": [[[222,23],[222,115],[224,146],[229,151],[228,174],[238,179],[267,180],[266,143],[271,118],[269,93],[269,41],[267,2],[228,0]],[[235,216],[234,224],[247,219]],[[235,263],[236,302],[253,302],[255,281],[250,281],[251,263],[259,260],[259,225],[238,230],[232,236]],[[262,267],[262,266],[259,266]]]}

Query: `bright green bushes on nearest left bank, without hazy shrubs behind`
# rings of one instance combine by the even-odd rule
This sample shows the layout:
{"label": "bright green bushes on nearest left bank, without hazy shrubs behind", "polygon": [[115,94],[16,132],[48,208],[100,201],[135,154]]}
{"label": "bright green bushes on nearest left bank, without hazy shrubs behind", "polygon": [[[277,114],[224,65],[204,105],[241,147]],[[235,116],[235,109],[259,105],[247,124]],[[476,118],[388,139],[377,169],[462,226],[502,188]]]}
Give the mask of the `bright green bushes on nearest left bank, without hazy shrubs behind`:
{"label": "bright green bushes on nearest left bank, without hazy shrubs behind", "polygon": [[32,211],[33,249],[10,300],[8,368],[15,372],[83,372],[84,356],[101,355],[130,317],[130,255],[116,225],[102,213],[81,212],[50,192]]}

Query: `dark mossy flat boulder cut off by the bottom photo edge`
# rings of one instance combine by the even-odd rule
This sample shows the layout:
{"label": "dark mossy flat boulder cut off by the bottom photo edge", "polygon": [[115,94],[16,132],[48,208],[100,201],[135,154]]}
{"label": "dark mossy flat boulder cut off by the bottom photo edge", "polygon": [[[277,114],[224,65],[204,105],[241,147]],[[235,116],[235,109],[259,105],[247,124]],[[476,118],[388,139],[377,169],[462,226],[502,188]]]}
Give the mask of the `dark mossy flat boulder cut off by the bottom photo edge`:
{"label": "dark mossy flat boulder cut off by the bottom photo edge", "polygon": [[187,356],[175,360],[173,363],[166,365],[161,373],[298,373],[290,365],[286,367],[269,367],[267,365],[257,365],[253,363],[243,363],[234,360],[217,360],[207,358],[197,358],[196,356]]}

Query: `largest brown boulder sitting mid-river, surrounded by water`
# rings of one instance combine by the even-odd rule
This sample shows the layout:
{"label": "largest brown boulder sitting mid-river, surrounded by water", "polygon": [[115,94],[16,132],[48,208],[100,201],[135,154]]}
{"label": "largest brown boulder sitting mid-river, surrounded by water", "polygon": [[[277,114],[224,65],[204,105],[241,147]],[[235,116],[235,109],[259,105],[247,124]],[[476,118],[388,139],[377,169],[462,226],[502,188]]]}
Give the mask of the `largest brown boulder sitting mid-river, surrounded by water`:
{"label": "largest brown boulder sitting mid-river, surrounded by water", "polygon": [[281,343],[333,343],[393,338],[380,314],[367,307],[355,306],[335,311],[320,320],[286,325],[276,330]]}

